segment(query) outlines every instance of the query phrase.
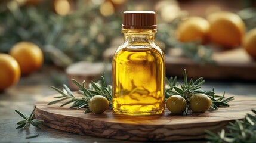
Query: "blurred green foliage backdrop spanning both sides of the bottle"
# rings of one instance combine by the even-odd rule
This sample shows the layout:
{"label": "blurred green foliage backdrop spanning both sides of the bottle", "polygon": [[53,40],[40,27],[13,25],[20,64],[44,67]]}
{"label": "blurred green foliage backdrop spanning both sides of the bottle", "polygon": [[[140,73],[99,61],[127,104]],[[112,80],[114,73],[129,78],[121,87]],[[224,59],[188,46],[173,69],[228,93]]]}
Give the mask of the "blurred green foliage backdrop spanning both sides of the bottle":
{"label": "blurred green foliage backdrop spanning both sides of the bottle", "polygon": [[[102,61],[103,52],[107,48],[119,46],[115,39],[123,36],[123,11],[154,10],[158,14],[156,43],[165,52],[178,46],[194,61],[211,63],[212,51],[208,46],[195,42],[180,43],[175,39],[178,23],[189,16],[187,11],[181,10],[179,2],[2,0],[0,52],[8,52],[17,42],[29,41],[42,48],[45,63],[67,67],[75,61]],[[248,8],[250,2],[253,1],[236,2],[240,4],[239,9],[245,8],[236,12],[245,21],[248,29],[256,25],[256,11]],[[213,11],[214,8],[218,9],[210,7],[206,11]]]}

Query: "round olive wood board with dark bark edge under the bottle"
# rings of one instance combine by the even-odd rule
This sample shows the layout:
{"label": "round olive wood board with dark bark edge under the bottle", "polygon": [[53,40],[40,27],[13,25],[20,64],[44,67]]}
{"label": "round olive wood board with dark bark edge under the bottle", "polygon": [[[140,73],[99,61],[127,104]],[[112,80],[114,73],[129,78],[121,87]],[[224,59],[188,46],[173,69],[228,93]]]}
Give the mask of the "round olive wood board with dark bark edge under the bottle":
{"label": "round olive wood board with dark bark edge under the bottle", "polygon": [[[234,95],[230,107],[205,113],[189,112],[187,116],[173,115],[167,109],[163,114],[127,116],[113,113],[109,108],[103,114],[84,114],[84,110],[70,109],[61,103],[47,105],[55,95],[36,102],[36,119],[44,120],[50,128],[81,135],[130,141],[174,141],[204,138],[205,130],[217,132],[235,119],[243,119],[256,108],[256,97]],[[230,95],[226,95],[229,97]]]}

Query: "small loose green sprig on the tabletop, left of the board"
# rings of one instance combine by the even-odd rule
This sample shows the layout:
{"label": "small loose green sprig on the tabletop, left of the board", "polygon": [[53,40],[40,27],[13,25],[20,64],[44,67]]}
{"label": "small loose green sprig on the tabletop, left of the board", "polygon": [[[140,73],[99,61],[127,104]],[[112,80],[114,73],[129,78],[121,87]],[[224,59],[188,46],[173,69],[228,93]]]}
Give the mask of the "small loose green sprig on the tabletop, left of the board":
{"label": "small loose green sprig on the tabletop, left of the board", "polygon": [[36,119],[35,117],[35,110],[36,110],[36,105],[32,111],[32,113],[30,114],[30,116],[28,117],[26,114],[23,114],[21,113],[20,111],[18,110],[15,110],[16,113],[18,113],[21,117],[23,117],[23,119],[25,120],[21,120],[20,122],[17,123],[17,128],[16,129],[20,129],[20,128],[29,128],[30,124],[37,127],[37,128],[40,128],[40,124],[42,122],[44,122],[43,120],[39,120],[39,121],[33,121],[34,119]]}

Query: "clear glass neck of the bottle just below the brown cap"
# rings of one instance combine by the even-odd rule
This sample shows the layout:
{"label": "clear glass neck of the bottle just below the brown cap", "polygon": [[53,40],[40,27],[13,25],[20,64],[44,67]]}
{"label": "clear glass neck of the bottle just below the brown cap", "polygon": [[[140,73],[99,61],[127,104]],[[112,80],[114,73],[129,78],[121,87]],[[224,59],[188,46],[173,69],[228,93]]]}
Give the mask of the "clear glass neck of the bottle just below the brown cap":
{"label": "clear glass neck of the bottle just below the brown cap", "polygon": [[145,49],[155,45],[156,29],[122,29],[126,48]]}

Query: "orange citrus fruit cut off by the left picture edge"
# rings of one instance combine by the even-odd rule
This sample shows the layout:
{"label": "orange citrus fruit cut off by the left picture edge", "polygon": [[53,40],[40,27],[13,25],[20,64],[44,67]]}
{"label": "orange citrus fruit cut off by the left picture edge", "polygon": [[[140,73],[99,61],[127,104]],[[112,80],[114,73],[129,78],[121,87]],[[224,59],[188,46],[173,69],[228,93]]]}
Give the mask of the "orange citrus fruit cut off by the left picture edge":
{"label": "orange citrus fruit cut off by the left picture edge", "polygon": [[0,91],[14,85],[20,79],[20,66],[8,54],[0,53]]}

